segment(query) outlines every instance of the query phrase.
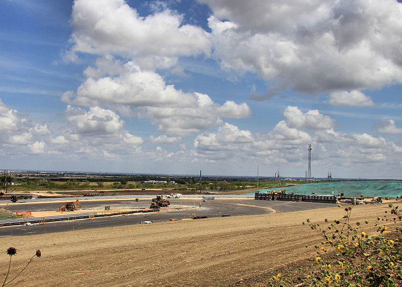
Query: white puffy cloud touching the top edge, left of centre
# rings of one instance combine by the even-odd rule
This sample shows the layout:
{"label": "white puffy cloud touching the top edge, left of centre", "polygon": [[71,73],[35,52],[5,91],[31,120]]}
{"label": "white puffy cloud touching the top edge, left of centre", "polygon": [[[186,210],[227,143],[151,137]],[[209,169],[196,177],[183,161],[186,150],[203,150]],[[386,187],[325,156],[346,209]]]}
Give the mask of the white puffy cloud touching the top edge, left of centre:
{"label": "white puffy cloud touching the top edge, left of centre", "polygon": [[[171,66],[178,56],[209,55],[211,41],[168,9],[141,17],[124,0],[76,0],[72,52],[137,57],[143,67]],[[155,65],[156,64],[156,65]]]}

